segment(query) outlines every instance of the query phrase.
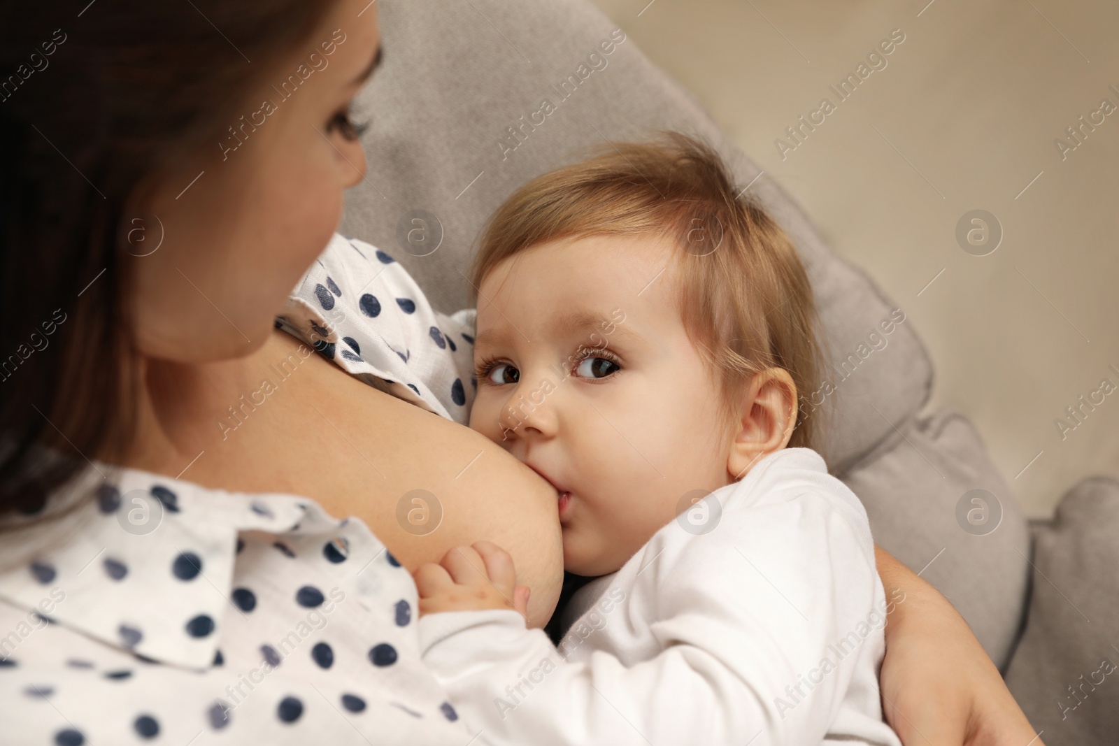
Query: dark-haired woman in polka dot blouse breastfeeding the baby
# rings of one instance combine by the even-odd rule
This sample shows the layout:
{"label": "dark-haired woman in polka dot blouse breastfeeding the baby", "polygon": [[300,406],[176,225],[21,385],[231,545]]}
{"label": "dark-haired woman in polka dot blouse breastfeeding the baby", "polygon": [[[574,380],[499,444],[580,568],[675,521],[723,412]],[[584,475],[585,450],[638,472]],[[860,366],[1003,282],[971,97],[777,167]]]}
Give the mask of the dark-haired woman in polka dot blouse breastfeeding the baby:
{"label": "dark-haired woman in polka dot blouse breastfeeding the baby", "polygon": [[[542,625],[554,491],[273,329],[364,172],[347,110],[379,58],[376,6],[2,12],[0,707],[17,743],[467,743],[414,654],[405,570],[490,539]],[[398,518],[416,489],[438,495],[438,531]],[[880,572],[906,598],[882,672],[903,742],[1033,738],[947,601],[887,555]]]}

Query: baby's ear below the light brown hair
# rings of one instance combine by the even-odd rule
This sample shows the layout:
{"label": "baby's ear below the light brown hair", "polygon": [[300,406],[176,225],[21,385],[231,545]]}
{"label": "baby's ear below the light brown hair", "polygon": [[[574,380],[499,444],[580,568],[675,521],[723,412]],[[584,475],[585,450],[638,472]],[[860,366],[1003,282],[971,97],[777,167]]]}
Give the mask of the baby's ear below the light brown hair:
{"label": "baby's ear below the light brown hair", "polygon": [[755,374],[740,400],[726,472],[742,479],[762,456],[783,448],[797,424],[797,385],[784,368]]}

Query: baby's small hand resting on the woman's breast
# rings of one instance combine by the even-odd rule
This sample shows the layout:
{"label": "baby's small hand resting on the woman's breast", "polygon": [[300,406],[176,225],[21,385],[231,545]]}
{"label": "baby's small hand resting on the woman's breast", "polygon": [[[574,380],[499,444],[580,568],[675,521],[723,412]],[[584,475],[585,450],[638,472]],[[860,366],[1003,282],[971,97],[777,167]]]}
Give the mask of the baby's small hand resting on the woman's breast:
{"label": "baby's small hand resting on the woman's breast", "polygon": [[528,616],[529,588],[517,585],[513,557],[496,544],[455,547],[439,565],[421,565],[412,576],[420,591],[421,616],[485,608],[511,608]]}

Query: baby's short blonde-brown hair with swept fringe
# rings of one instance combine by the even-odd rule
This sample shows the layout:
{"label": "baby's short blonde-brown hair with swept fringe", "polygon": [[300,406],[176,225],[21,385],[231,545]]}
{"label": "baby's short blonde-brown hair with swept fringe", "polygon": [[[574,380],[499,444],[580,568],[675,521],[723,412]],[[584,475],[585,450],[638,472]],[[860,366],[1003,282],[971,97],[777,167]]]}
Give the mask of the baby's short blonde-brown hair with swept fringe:
{"label": "baby's short blonde-brown hair with swept fringe", "polygon": [[[610,143],[515,191],[482,232],[471,302],[504,259],[558,238],[595,235],[675,239],[680,317],[720,380],[725,416],[736,414],[745,386],[765,368],[784,368],[797,395],[816,389],[816,304],[796,248],[741,196],[712,147],[678,132]],[[798,410],[790,446],[815,446],[807,414]]]}

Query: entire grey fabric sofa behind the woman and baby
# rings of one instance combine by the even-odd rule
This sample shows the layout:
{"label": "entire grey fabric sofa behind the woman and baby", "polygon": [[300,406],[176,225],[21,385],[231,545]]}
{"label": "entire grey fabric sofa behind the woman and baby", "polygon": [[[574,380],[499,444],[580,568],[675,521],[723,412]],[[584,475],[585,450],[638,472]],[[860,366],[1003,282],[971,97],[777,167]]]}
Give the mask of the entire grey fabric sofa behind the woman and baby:
{"label": "entire grey fabric sofa behind the woman and baby", "polygon": [[344,233],[392,253],[452,312],[467,304],[479,229],[520,183],[605,139],[661,129],[707,139],[807,263],[835,387],[812,416],[877,542],[959,608],[1050,746],[1116,743],[1119,674],[1090,681],[1102,659],[1119,661],[1119,484],[1084,482],[1032,537],[967,417],[922,413],[933,369],[904,309],[836,256],[781,187],[587,2],[377,8],[384,65],[357,106],[370,124],[369,168],[347,197]]}

